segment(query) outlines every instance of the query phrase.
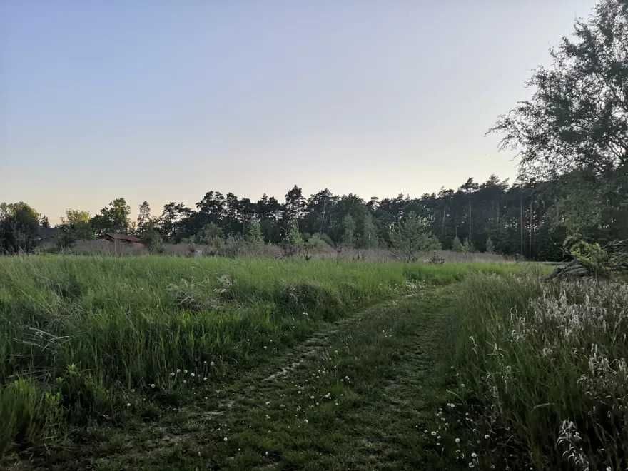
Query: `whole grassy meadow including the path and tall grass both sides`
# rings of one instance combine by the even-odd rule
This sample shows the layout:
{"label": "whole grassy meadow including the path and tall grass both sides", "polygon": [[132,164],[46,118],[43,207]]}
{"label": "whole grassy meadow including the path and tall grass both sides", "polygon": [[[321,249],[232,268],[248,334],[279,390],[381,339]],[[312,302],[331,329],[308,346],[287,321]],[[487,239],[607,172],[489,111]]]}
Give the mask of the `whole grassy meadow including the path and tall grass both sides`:
{"label": "whole grassy meadow including the path and tall grass both sides", "polygon": [[0,258],[0,467],[624,469],[622,283]]}

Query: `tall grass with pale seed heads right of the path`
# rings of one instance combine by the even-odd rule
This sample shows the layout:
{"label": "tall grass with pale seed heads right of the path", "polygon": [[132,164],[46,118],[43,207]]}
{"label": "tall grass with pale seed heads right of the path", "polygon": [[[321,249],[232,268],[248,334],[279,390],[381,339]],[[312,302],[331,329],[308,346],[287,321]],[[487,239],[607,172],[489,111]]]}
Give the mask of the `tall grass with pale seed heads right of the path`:
{"label": "tall grass with pale seed heads right of the path", "polygon": [[628,286],[486,275],[460,288],[456,369],[485,430],[536,469],[626,469]]}

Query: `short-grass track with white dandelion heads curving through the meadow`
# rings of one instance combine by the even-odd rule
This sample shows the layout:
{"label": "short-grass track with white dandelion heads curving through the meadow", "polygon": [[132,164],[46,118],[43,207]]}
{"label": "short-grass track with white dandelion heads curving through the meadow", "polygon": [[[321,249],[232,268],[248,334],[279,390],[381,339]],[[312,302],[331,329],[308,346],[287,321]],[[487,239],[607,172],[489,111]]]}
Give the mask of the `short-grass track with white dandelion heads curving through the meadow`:
{"label": "short-grass track with white dandelion heads curving through the meadow", "polygon": [[[328,325],[220,390],[57,452],[56,469],[415,470],[445,396],[451,288]],[[24,464],[24,463],[23,463]],[[451,469],[451,466],[447,467]]]}

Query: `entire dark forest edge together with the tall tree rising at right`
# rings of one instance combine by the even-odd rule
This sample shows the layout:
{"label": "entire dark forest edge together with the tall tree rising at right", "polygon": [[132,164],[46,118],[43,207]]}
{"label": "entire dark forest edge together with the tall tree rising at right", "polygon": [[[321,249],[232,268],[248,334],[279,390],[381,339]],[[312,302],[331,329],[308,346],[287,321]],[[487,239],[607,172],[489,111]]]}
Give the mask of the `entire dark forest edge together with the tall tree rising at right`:
{"label": "entire dark forest edge together with the tall tree rising at right", "polygon": [[[266,243],[316,240],[355,248],[387,248],[391,234],[415,215],[442,248],[487,250],[534,260],[562,260],[565,240],[600,246],[628,239],[628,4],[602,1],[574,35],[552,50],[552,65],[527,82],[532,98],[497,118],[489,132],[520,158],[517,183],[497,176],[467,180],[420,198],[365,201],[324,189],[303,195],[294,186],[285,201],[258,201],[208,191],[188,208],[171,202],[151,215],[144,202],[138,221],[118,198],[90,217],[69,210],[61,246],[106,232],[131,232],[149,243],[203,243],[245,238]],[[38,221],[26,203],[0,206],[0,251],[30,250]]]}

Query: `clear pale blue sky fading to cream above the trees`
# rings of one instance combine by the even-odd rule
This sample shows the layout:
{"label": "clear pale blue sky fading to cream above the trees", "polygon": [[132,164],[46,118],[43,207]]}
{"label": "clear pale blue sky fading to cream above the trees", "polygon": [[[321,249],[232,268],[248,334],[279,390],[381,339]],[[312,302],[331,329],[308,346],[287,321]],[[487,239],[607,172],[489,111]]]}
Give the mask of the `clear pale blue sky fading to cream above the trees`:
{"label": "clear pale blue sky fading to cream above the trees", "polygon": [[0,1],[0,201],[515,179],[485,133],[594,0]]}

